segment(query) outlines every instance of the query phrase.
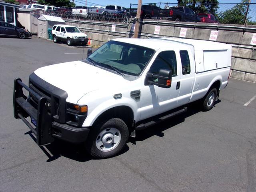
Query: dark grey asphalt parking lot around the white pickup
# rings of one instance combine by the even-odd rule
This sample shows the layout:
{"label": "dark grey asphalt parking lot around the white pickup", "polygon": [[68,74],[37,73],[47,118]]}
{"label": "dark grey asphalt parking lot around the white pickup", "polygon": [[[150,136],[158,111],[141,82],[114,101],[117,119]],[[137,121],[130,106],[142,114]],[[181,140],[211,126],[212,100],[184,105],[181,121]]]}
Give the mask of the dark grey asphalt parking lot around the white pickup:
{"label": "dark grey asphalt parking lot around the white pickup", "polygon": [[37,68],[82,55],[36,37],[0,38],[0,191],[256,191],[256,84],[232,78],[212,110],[192,104],[114,158],[61,141],[40,148],[13,117],[13,80],[27,84]]}

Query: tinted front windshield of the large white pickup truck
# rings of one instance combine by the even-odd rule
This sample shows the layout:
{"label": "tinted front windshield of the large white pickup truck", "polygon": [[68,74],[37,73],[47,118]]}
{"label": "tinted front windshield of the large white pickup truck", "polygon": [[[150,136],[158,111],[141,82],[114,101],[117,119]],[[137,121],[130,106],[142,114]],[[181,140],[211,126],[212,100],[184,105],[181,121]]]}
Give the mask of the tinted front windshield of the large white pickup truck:
{"label": "tinted front windshield of the large white pickup truck", "polygon": [[112,66],[122,74],[139,76],[153,53],[154,50],[146,47],[109,41],[93,52],[87,60],[93,60],[105,68]]}

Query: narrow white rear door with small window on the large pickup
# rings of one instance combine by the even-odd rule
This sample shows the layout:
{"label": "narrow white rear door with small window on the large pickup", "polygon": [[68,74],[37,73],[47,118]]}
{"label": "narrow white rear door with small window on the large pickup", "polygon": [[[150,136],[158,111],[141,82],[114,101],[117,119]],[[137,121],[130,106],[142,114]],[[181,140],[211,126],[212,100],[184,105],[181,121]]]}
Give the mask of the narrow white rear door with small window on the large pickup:
{"label": "narrow white rear door with small window on the large pickup", "polygon": [[194,59],[191,51],[180,50],[177,56],[178,64],[181,66],[180,94],[178,105],[184,105],[189,102],[192,95],[192,86],[194,85]]}

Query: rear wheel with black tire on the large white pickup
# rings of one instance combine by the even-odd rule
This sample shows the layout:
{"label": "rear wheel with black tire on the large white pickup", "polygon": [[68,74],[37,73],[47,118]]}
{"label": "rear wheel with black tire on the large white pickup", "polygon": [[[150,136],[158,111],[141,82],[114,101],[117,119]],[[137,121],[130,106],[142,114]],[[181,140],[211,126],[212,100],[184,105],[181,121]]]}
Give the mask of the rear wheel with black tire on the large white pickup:
{"label": "rear wheel with black tire on the large white pickup", "polygon": [[216,100],[216,96],[217,96],[216,88],[212,88],[210,91],[208,91],[206,96],[202,98],[202,102],[201,102],[202,111],[209,111],[212,109]]}

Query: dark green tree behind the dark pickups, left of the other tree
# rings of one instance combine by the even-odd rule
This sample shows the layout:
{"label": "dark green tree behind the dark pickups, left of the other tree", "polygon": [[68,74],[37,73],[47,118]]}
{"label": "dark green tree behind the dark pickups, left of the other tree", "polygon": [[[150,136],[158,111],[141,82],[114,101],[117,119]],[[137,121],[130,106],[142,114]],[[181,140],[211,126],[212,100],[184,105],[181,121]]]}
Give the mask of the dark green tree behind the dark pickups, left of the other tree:
{"label": "dark green tree behind the dark pickups, left of the other tree", "polygon": [[179,6],[188,6],[197,13],[212,13],[216,15],[218,12],[218,0],[178,0]]}

